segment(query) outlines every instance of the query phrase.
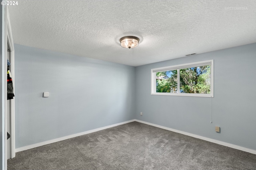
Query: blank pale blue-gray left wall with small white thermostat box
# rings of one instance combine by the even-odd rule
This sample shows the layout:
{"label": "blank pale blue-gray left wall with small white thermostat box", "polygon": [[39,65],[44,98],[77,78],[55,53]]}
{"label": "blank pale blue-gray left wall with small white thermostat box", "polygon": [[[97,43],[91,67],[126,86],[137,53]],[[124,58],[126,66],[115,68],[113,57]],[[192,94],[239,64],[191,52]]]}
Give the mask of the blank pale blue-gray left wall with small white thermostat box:
{"label": "blank pale blue-gray left wall with small white thermostat box", "polygon": [[16,148],[134,118],[135,67],[14,48]]}

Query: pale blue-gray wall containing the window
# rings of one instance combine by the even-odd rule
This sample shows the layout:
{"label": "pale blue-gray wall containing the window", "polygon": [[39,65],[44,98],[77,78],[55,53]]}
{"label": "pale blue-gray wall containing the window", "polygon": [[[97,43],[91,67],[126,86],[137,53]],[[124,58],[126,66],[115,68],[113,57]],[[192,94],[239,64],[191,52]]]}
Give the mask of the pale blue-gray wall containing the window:
{"label": "pale blue-gray wall containing the window", "polygon": [[[150,95],[151,68],[211,59],[214,98]],[[255,63],[256,43],[138,66],[135,119],[256,150]]]}

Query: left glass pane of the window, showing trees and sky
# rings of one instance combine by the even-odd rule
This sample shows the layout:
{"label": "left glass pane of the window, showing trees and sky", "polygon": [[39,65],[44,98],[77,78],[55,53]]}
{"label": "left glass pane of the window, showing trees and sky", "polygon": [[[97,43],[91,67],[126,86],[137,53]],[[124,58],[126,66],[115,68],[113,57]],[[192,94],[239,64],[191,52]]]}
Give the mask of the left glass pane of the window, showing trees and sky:
{"label": "left glass pane of the window, showing trees and sky", "polygon": [[177,70],[156,72],[156,92],[177,93]]}

